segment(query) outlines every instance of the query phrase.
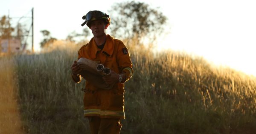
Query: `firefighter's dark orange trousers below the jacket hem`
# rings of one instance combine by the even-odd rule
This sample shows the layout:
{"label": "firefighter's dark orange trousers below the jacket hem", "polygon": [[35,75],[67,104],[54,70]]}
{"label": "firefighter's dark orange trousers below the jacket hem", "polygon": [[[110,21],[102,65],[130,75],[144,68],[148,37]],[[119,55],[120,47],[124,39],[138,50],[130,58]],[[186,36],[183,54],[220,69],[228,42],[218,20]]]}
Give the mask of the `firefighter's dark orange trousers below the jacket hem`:
{"label": "firefighter's dark orange trousers below the jacket hem", "polygon": [[122,128],[120,119],[87,117],[91,134],[119,134]]}

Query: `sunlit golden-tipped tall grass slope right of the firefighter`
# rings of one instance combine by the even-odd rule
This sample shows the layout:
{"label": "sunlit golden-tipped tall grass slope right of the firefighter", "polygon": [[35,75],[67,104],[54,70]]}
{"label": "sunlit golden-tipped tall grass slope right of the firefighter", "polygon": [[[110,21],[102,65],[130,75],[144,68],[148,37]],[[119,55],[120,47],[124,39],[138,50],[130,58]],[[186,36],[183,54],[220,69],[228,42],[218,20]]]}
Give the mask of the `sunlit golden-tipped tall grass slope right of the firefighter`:
{"label": "sunlit golden-tipped tall grass slope right of the firefighter", "polygon": [[135,73],[126,90],[126,113],[131,119],[126,121],[132,127],[125,125],[124,130],[131,134],[256,131],[255,78],[213,68],[201,57],[184,53],[132,54]]}

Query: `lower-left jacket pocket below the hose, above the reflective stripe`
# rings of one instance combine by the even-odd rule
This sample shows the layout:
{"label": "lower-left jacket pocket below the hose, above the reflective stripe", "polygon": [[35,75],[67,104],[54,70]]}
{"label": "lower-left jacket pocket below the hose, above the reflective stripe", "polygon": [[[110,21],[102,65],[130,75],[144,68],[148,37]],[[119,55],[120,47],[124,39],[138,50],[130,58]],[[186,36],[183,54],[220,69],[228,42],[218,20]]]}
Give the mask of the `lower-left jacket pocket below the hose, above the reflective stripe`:
{"label": "lower-left jacket pocket below the hose, above the reflective stripe", "polygon": [[84,93],[84,106],[93,106],[98,104],[98,93],[96,91],[86,91]]}

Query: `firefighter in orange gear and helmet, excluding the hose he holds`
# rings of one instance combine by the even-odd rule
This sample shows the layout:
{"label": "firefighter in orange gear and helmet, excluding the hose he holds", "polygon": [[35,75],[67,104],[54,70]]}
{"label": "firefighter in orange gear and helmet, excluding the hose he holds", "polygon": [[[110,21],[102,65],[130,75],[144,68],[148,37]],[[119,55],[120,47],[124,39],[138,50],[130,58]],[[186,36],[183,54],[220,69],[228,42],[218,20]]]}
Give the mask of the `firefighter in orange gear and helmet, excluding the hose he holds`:
{"label": "firefighter in orange gear and helmet, excluding the hose he holds", "polygon": [[[90,82],[85,83],[84,117],[87,117],[92,134],[119,134],[122,128],[120,119],[125,119],[124,113],[124,83],[132,77],[133,68],[128,49],[122,41],[114,39],[105,33],[110,25],[109,15],[102,11],[89,11],[82,17],[93,33],[93,38],[78,51],[81,57],[93,60],[107,68],[111,75],[103,77],[105,83],[114,84],[113,88],[97,88]],[[81,68],[74,61],[71,66],[72,78],[81,82]]]}

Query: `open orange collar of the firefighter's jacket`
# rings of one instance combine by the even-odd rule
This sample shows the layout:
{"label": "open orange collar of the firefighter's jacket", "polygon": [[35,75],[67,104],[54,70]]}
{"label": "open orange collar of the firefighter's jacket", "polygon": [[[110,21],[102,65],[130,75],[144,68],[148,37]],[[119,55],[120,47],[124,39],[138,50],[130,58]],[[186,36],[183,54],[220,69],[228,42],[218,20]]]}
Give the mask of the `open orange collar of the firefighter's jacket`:
{"label": "open orange collar of the firefighter's jacket", "polygon": [[90,40],[89,46],[87,49],[87,53],[90,55],[90,58],[95,59],[98,51],[101,51],[103,54],[107,55],[108,57],[112,56],[114,51],[114,39],[108,34],[106,36],[107,36],[106,43],[102,51],[97,47],[94,37]]}

